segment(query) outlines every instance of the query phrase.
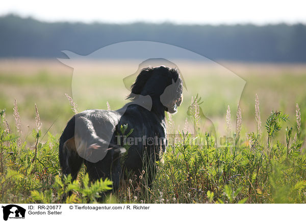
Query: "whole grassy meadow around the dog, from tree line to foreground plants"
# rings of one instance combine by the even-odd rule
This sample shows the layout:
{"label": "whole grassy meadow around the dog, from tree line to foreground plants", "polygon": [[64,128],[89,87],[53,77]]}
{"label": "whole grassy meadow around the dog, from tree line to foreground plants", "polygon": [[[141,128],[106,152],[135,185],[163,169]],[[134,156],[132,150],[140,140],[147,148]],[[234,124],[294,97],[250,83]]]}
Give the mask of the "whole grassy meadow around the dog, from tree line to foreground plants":
{"label": "whole grassy meadow around the dog, from tree line to foreground plants", "polygon": [[[146,186],[144,169],[105,201],[305,203],[306,65],[178,66],[186,81],[184,101],[167,116],[168,133],[176,138],[169,136],[153,186]],[[123,79],[137,67],[86,61],[78,68],[85,79],[75,78],[75,70],[56,60],[0,61],[2,203],[62,203],[69,191],[66,203],[95,203],[109,189],[109,180],[90,183],[84,168],[77,181],[61,180],[58,139],[73,115],[65,94],[79,112],[107,109],[107,102],[120,108],[130,84]]]}

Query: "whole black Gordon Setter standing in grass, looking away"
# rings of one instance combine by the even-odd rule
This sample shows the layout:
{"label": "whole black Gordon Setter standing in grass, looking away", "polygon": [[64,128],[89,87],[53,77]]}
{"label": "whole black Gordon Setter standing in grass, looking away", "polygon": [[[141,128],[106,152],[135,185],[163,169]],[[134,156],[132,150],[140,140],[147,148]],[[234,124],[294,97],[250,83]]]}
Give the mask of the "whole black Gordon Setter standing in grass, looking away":
{"label": "whole black Gordon Setter standing in grass, looking away", "polygon": [[[142,69],[127,98],[132,102],[116,111],[86,110],[70,119],[59,145],[64,175],[76,179],[84,162],[91,181],[109,178],[116,190],[122,169],[140,174],[145,162],[151,164],[146,168],[151,184],[155,161],[167,146],[165,111],[175,113],[183,100],[179,71],[165,66]],[[129,149],[121,159],[126,142]]]}

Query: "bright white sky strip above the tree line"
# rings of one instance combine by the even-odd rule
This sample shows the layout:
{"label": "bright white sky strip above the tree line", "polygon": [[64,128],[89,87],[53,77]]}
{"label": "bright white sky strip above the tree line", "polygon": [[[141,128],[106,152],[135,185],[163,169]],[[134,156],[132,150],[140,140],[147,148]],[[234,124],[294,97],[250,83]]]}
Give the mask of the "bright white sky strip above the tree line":
{"label": "bright white sky strip above the tree line", "polygon": [[[103,3],[101,3],[103,2]],[[1,0],[0,15],[44,21],[174,22],[188,24],[306,23],[306,1],[16,1]]]}

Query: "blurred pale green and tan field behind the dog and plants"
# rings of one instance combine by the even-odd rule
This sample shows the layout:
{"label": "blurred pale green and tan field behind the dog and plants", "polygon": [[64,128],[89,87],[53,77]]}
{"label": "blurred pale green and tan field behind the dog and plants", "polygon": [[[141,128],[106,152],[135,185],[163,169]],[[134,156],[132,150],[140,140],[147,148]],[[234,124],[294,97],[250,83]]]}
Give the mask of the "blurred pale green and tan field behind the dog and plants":
{"label": "blurred pale green and tan field behind the dog and plants", "polygon": [[[8,122],[14,126],[13,100],[17,99],[23,138],[28,136],[34,127],[35,103],[40,112],[43,131],[49,129],[53,134],[60,134],[73,115],[65,94],[72,96],[78,103],[79,112],[90,108],[106,109],[107,101],[111,109],[120,108],[126,103],[124,98],[129,91],[126,89],[128,87],[124,87],[123,79],[137,71],[135,62],[83,61],[80,64],[76,72],[75,69],[57,60],[0,61],[0,108],[6,108]],[[221,134],[225,129],[227,105],[231,106],[232,123],[235,123],[239,98],[243,130],[247,128],[247,131],[251,131],[256,128],[254,124],[256,94],[259,96],[263,119],[272,109],[281,109],[294,119],[295,103],[299,104],[302,117],[306,117],[304,116],[306,113],[303,112],[303,107],[306,106],[304,90],[306,65],[229,62],[220,62],[220,64],[223,66],[186,61],[177,64],[182,71],[187,88],[187,90],[184,89],[183,104],[174,116],[177,125],[180,125],[179,128],[183,128],[185,119],[188,117],[186,110],[191,96],[196,94],[199,94],[203,101],[200,105],[203,115],[215,124]],[[183,70],[187,71],[183,72]],[[128,80],[133,81],[135,77],[132,76],[132,80]],[[81,82],[81,85],[77,81]],[[127,82],[127,85],[131,85],[131,82]],[[77,90],[72,92],[72,87]],[[243,89],[242,93],[241,89]],[[304,119],[302,118],[302,121]],[[235,128],[235,124],[233,127]],[[203,128],[202,131],[209,131],[209,128]]]}

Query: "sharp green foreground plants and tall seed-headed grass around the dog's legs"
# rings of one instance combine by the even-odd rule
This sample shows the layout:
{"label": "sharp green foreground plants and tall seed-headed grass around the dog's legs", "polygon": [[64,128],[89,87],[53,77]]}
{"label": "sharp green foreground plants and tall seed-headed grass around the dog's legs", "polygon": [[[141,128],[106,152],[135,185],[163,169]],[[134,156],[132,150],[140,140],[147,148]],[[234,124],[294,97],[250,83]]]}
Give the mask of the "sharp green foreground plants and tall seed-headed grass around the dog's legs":
{"label": "sharp green foreground plants and tall seed-headed grass around the dog's legs", "polygon": [[[69,99],[69,98],[68,98]],[[199,123],[197,97],[191,102],[194,126]],[[72,107],[76,107],[73,104]],[[78,180],[62,177],[58,161],[59,135],[40,132],[36,107],[35,147],[19,144],[12,133],[5,110],[0,126],[0,200],[2,203],[96,203],[100,193],[110,189],[110,180],[90,182],[83,167]],[[216,147],[216,138],[209,133],[190,134],[188,126],[173,140],[165,154],[159,153],[156,178],[148,186],[144,167],[140,176],[128,175],[119,190],[104,200],[106,203],[305,203],[306,155],[302,149],[304,127],[296,105],[296,123],[290,126],[282,112],[271,111],[261,132],[259,98],[256,95],[256,132],[240,135],[243,115],[237,111],[236,132],[231,130],[230,107],[226,115],[228,137],[223,147]],[[14,103],[17,116],[17,103]],[[75,109],[77,111],[77,109]],[[173,127],[171,116],[168,127]],[[286,124],[286,125],[285,125]],[[292,124],[291,124],[292,125]],[[286,128],[285,128],[286,126]],[[172,132],[173,129],[168,129]],[[292,138],[292,135],[294,135]],[[282,141],[286,137],[286,141]],[[195,140],[203,138],[203,140]],[[245,142],[247,141],[247,142]],[[146,165],[146,164],[144,164]],[[127,172],[128,173],[128,172]],[[72,194],[71,194],[72,193]]]}

